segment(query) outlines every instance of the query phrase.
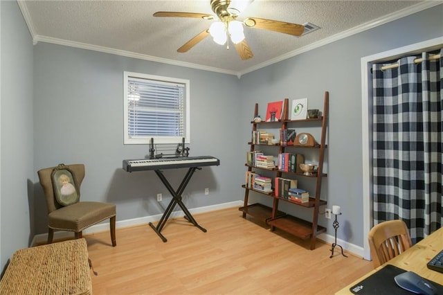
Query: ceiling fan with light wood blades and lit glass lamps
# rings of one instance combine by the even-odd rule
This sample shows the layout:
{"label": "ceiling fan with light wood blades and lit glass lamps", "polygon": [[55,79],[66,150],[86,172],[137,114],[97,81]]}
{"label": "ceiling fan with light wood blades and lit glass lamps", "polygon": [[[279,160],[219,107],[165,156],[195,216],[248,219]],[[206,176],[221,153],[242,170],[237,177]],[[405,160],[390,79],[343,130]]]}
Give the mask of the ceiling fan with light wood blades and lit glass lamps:
{"label": "ceiling fan with light wood blades and lit glass lamps", "polygon": [[246,39],[244,39],[243,26],[247,28],[260,28],[262,30],[273,30],[274,32],[284,33],[294,36],[300,36],[305,29],[300,24],[291,24],[285,21],[275,21],[273,19],[260,19],[258,17],[247,17],[243,21],[237,21],[237,17],[246,7],[246,4],[253,0],[210,0],[210,6],[215,15],[206,15],[193,12],[164,12],[154,13],[154,17],[195,17],[207,20],[215,20],[210,28],[197,34],[188,42],[183,44],[177,51],[185,53],[190,48],[201,42],[204,38],[211,35],[217,44],[226,44],[229,48],[229,39],[233,42],[235,49],[242,60],[248,60],[253,57],[251,48],[249,48]]}

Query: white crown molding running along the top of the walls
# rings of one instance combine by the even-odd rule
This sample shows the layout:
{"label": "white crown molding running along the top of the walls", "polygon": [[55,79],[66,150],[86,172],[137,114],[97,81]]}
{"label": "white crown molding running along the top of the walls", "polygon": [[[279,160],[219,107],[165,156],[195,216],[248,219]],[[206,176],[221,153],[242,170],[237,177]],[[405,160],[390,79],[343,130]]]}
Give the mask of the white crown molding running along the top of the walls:
{"label": "white crown molding running along the top of the walls", "polygon": [[371,28],[375,28],[377,26],[381,26],[383,24],[386,24],[390,21],[394,21],[396,19],[400,19],[401,17],[406,17],[408,15],[412,15],[415,12],[419,12],[428,8],[432,8],[434,6],[440,5],[443,3],[443,1],[423,1],[420,3],[417,3],[416,5],[410,6],[408,8],[404,8],[403,10],[399,10],[397,12],[392,12],[390,15],[386,15],[384,17],[380,17],[379,19],[375,19],[374,21],[369,21],[365,24],[361,24],[359,26],[356,26],[354,28],[351,28],[349,30],[345,30],[341,33],[338,33],[336,35],[332,35],[331,37],[327,37],[325,39],[322,39],[318,42],[314,42],[312,44],[309,44],[307,46],[303,46],[301,48],[296,49],[295,51],[291,51],[289,53],[286,53],[284,55],[280,55],[279,57],[275,57],[271,60],[268,60],[266,62],[262,62],[261,64],[257,64],[256,66],[252,66],[248,69],[245,69],[244,71],[230,71],[226,69],[220,69],[215,68],[212,66],[202,66],[200,64],[192,64],[190,62],[179,62],[177,60],[169,60],[161,57],[155,57],[151,55],[145,55],[140,53],[134,53],[131,51],[122,51],[114,48],[104,47],[104,46],[96,46],[92,44],[86,44],[81,42],[73,42],[65,39],[58,39],[53,37],[46,37],[42,35],[37,35],[35,27],[33,26],[33,21],[30,18],[28,9],[26,8],[26,4],[22,0],[17,0],[17,3],[19,5],[19,8],[21,10],[21,14],[23,15],[26,25],[28,26],[28,30],[30,32],[30,35],[33,38],[33,44],[37,44],[38,42],[46,42],[51,44],[58,44],[63,46],[70,46],[75,48],[82,48],[87,49],[91,51],[98,51],[102,53],[109,53],[114,55],[121,55],[125,57],[132,57],[139,60],[149,60],[151,62],[161,62],[163,64],[172,64],[174,66],[184,66],[191,69],[198,69],[202,71],[213,71],[216,73],[225,73],[228,75],[236,75],[237,78],[241,78],[242,75],[246,73],[251,73],[252,71],[256,71],[257,69],[262,69],[266,66],[270,66],[271,64],[275,64],[277,62],[281,62],[282,60],[287,60],[288,58],[294,57],[296,55],[300,55],[302,53],[305,53],[307,51],[311,51],[315,48],[325,46],[326,44],[336,42],[337,40],[343,39],[345,37],[350,37],[352,35],[361,33],[365,30],[369,30]]}

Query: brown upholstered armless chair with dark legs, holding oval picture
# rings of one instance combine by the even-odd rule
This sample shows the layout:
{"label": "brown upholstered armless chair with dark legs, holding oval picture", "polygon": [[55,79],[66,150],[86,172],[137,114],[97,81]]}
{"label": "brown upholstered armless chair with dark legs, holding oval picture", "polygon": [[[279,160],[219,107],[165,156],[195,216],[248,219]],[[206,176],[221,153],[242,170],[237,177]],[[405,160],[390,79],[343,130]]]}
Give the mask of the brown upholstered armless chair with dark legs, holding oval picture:
{"label": "brown upholstered armless chair with dark legs, holding oval picture", "polygon": [[48,244],[54,231],[73,231],[82,238],[89,226],[109,219],[112,246],[116,246],[116,205],[105,202],[80,202],[80,186],[84,179],[84,165],[60,164],[37,172],[48,206]]}

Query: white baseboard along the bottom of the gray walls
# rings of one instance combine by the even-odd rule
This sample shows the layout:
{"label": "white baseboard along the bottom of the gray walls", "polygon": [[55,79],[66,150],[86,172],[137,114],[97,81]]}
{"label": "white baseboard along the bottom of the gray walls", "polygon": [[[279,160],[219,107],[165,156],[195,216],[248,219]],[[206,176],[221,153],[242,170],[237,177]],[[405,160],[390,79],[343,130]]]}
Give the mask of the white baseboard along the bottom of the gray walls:
{"label": "white baseboard along the bottom of the gray walls", "polygon": [[[216,211],[226,208],[233,208],[233,207],[240,207],[243,206],[243,201],[234,201],[234,202],[228,202],[224,204],[217,204],[217,205],[211,205],[211,206],[204,206],[199,208],[193,208],[189,209],[189,212],[191,214],[199,214],[199,213],[208,213],[210,211]],[[171,213],[171,218],[176,218],[182,216],[184,213],[183,211],[174,211]],[[130,227],[130,226],[138,226],[142,224],[147,224],[148,222],[157,222],[160,220],[162,214],[156,214],[156,215],[150,215],[145,217],[138,217],[133,218],[130,220],[120,220],[116,222],[116,229],[123,228],[123,227]],[[93,225],[83,231],[84,234],[88,233],[98,233],[101,231],[109,231],[109,222],[103,222],[100,224]],[[72,232],[69,231],[55,231],[54,233],[54,240],[62,240],[65,238],[70,238],[73,236]],[[334,243],[334,236],[328,235],[327,233],[321,233],[317,236],[319,240],[323,240],[324,242],[328,244]],[[31,245],[35,244],[41,244],[46,242],[48,240],[48,234],[42,233],[39,235],[35,235],[33,238],[33,242],[31,242]],[[337,239],[337,244],[341,245],[345,251],[351,252],[356,256],[363,257],[363,247],[356,246],[354,244],[350,244],[344,240]],[[336,248],[334,251],[341,251],[341,249]]]}

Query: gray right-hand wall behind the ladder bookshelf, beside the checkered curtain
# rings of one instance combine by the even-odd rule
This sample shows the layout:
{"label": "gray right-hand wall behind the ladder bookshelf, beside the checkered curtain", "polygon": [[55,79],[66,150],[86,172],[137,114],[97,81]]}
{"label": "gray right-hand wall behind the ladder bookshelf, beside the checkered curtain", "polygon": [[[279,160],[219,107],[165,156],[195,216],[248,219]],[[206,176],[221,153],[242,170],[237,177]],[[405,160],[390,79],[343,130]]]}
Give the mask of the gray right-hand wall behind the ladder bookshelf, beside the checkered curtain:
{"label": "gray right-hand wall behind the ladder bookshelf, beside the checkered curtain", "polygon": [[[328,175],[322,199],[329,208],[341,206],[338,238],[347,242],[363,247],[363,210],[368,210],[362,198],[361,57],[442,37],[442,15],[443,5],[435,6],[242,77],[243,114],[252,114],[256,101],[265,107],[279,98],[307,97],[309,108],[322,109],[324,91],[329,91]],[[244,137],[251,132],[250,125],[244,120]],[[307,213],[287,204],[282,209],[302,216]],[[334,235],[332,220],[323,215],[320,224]]]}

